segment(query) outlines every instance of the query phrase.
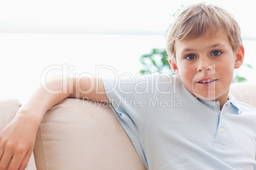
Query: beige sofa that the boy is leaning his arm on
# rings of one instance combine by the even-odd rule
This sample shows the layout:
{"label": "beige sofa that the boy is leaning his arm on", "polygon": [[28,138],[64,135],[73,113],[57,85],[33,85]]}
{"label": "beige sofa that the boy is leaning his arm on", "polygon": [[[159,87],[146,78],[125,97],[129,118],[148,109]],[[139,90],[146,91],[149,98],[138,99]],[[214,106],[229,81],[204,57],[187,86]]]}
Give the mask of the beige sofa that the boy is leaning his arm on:
{"label": "beige sofa that the boy is leaning his arm on", "polygon": [[[237,100],[256,107],[256,84],[232,84]],[[0,102],[0,130],[20,107]],[[25,133],[25,132],[24,132]],[[145,169],[127,134],[108,106],[66,99],[46,113],[27,169]]]}

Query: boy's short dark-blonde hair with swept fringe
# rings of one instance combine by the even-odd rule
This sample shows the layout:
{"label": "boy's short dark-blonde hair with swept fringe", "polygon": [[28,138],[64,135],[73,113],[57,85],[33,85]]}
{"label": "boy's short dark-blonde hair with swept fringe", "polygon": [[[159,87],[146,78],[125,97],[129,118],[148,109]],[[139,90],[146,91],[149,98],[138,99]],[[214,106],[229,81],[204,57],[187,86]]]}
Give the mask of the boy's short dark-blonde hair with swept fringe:
{"label": "boy's short dark-blonde hair with swept fringe", "polygon": [[204,36],[208,30],[213,35],[218,34],[218,32],[227,34],[234,53],[242,43],[240,27],[228,11],[213,4],[194,4],[187,6],[174,16],[174,22],[166,39],[168,60],[174,59],[176,61],[175,41]]}

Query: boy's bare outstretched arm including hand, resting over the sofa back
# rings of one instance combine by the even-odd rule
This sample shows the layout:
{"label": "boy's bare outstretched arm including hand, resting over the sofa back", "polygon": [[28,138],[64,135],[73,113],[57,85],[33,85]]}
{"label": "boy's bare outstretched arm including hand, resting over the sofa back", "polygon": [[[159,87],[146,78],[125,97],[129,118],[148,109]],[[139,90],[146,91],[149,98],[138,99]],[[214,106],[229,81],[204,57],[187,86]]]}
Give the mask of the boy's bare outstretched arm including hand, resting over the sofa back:
{"label": "boy's bare outstretched arm including hand, resting over the sofa back", "polygon": [[[70,78],[49,81],[39,88],[0,133],[0,170],[25,169],[34,148],[36,133],[43,115],[65,98],[87,98],[110,103],[102,79]],[[53,94],[58,92],[57,94]]]}

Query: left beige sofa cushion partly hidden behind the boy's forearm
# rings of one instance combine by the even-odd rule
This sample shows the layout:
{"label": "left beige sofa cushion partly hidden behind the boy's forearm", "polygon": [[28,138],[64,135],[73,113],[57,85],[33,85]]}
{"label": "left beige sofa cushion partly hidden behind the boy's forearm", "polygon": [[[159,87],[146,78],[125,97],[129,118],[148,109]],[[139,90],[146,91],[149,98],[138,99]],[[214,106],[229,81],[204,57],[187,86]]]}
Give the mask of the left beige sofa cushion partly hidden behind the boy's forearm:
{"label": "left beige sofa cushion partly hidden behind the boy's forearm", "polygon": [[[21,104],[18,100],[1,100],[0,101],[0,131],[13,119]],[[27,165],[27,170],[36,169],[34,155],[32,154]]]}

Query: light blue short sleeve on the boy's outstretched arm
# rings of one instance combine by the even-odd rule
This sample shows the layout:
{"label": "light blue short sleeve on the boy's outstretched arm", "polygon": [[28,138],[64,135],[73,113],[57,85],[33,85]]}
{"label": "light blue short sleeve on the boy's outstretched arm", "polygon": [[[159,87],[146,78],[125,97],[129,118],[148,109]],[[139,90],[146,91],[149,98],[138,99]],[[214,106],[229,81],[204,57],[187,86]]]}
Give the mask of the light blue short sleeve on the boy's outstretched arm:
{"label": "light blue short sleeve on the boy's outstretched arm", "polygon": [[155,79],[159,74],[132,76],[126,74],[118,79],[104,79],[110,107],[122,124],[132,142],[143,134],[150,115],[150,102],[155,94]]}

